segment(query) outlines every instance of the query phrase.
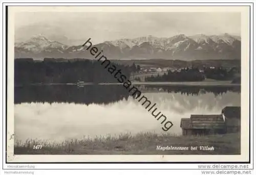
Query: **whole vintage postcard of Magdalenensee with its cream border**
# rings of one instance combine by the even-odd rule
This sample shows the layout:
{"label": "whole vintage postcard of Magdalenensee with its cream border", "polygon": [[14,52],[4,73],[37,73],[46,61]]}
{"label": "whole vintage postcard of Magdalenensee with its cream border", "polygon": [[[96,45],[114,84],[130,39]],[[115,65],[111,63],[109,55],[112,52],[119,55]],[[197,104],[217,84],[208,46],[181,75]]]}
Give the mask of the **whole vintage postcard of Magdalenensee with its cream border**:
{"label": "whole vintage postcard of Magdalenensee with its cream border", "polygon": [[249,7],[8,7],[7,162],[248,162]]}

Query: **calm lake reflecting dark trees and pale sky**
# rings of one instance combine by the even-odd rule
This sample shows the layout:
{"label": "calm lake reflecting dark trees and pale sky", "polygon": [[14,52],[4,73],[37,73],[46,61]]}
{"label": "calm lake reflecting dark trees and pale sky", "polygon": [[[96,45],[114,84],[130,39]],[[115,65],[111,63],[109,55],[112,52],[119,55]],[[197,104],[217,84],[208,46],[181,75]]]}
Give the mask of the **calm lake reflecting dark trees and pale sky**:
{"label": "calm lake reflecting dark trees and pale sky", "polygon": [[[191,114],[220,114],[226,106],[241,106],[240,87],[138,86],[144,96],[181,134],[181,118]],[[84,87],[27,86],[14,90],[15,140],[63,141],[108,134],[166,133],[140,102],[120,85]]]}

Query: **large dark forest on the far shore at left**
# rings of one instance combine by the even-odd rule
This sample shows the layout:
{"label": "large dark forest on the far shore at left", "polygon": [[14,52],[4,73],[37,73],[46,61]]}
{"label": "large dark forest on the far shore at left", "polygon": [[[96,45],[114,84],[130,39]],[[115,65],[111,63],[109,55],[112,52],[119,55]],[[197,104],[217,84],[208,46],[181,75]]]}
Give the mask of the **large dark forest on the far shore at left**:
{"label": "large dark forest on the far shore at left", "polygon": [[[112,63],[121,69],[122,74],[130,77],[136,67],[123,66]],[[76,83],[78,81],[92,83],[117,83],[116,78],[104,69],[101,62],[91,60],[45,59],[15,59],[14,83],[15,85],[28,85],[33,83]]]}

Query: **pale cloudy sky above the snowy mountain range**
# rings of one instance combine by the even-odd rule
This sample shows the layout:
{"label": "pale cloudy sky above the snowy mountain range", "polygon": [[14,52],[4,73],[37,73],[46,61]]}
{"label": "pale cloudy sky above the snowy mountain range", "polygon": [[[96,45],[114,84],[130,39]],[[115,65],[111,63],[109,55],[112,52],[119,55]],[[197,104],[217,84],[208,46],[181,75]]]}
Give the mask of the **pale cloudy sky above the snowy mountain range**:
{"label": "pale cloudy sky above the snowy mountain range", "polygon": [[240,32],[241,16],[235,12],[19,12],[15,15],[15,40],[26,40],[39,33],[63,42],[90,37],[99,43],[148,35],[240,35]]}

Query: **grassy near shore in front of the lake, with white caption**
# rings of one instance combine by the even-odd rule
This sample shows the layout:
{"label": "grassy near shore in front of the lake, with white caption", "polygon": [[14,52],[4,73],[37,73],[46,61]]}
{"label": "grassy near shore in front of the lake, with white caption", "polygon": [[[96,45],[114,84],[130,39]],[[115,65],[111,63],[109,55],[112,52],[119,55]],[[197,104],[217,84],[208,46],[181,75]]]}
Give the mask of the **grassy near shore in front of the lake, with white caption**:
{"label": "grassy near shore in front of the lake, with white caption", "polygon": [[[34,149],[33,145],[42,145]],[[197,151],[157,150],[157,146],[198,146]],[[200,151],[199,146],[214,146],[214,151]],[[240,155],[240,134],[210,136],[174,136],[170,134],[140,133],[135,136],[121,134],[117,137],[105,136],[94,139],[71,139],[61,143],[48,140],[17,141],[14,154],[49,155]]]}

